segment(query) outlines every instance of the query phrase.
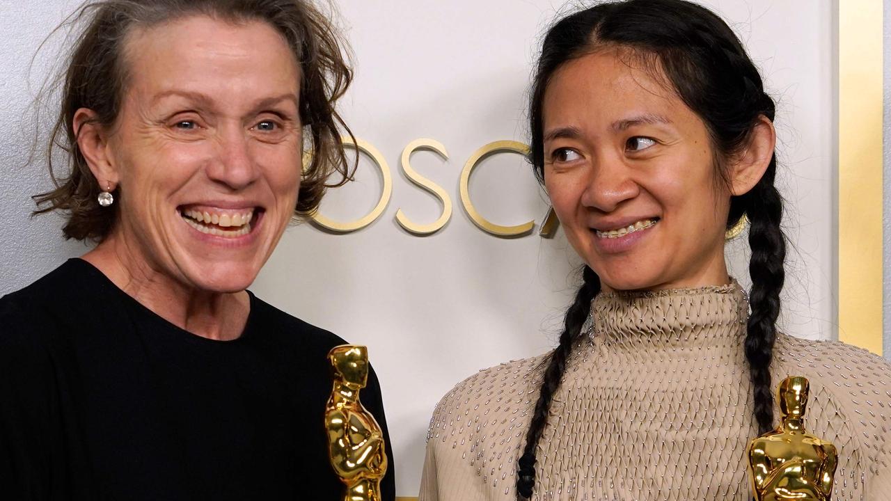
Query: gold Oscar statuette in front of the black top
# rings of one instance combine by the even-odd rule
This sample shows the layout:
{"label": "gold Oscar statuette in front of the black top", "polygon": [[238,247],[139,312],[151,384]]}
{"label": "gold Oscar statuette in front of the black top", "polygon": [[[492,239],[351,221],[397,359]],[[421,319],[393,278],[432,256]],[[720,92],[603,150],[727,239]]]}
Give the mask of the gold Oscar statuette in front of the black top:
{"label": "gold Oscar statuette in front of the black top", "polygon": [[368,349],[345,344],[328,353],[334,388],[325,406],[328,456],[346,484],[344,501],[380,501],[380,480],[387,473],[383,431],[359,401],[368,380]]}

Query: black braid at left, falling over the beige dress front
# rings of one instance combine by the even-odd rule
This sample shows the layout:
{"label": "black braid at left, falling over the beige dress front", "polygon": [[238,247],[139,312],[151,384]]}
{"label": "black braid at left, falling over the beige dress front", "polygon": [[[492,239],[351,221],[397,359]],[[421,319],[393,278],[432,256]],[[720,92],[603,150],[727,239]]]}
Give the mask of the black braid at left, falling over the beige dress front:
{"label": "black braid at left, falling over the beige dress front", "polygon": [[584,267],[582,277],[584,283],[576,293],[576,300],[566,312],[563,333],[560,333],[560,344],[553,350],[548,366],[544,370],[544,380],[526,434],[526,448],[523,449],[523,456],[520,456],[518,461],[517,493],[520,499],[532,497],[535,487],[535,447],[547,423],[553,395],[560,388],[560,380],[563,379],[569,354],[572,353],[572,345],[582,335],[584,321],[591,313],[591,301],[601,291],[601,279],[590,267]]}

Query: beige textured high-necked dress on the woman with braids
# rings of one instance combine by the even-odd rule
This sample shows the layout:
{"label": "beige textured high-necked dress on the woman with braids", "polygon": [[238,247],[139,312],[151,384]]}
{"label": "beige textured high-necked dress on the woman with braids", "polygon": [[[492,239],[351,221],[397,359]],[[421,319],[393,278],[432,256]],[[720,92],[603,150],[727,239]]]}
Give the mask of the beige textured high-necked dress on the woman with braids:
{"label": "beige textured high-necked dress on the woman with braids", "polygon": [[[602,293],[537,448],[536,500],[748,500],[757,435],[738,285]],[[516,498],[544,356],[459,383],[430,422],[422,501]],[[833,499],[891,500],[891,365],[781,335],[771,365],[811,382],[808,431],[838,448]]]}

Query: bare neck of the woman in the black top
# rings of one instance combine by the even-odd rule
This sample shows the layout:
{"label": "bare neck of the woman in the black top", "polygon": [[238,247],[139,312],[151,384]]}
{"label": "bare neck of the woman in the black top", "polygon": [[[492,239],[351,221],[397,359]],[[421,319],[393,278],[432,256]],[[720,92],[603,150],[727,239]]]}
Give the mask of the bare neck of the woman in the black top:
{"label": "bare neck of the woman in the black top", "polygon": [[152,266],[138,249],[135,242],[110,234],[82,259],[145,308],[185,331],[218,341],[231,341],[241,335],[250,310],[247,292],[187,287]]}

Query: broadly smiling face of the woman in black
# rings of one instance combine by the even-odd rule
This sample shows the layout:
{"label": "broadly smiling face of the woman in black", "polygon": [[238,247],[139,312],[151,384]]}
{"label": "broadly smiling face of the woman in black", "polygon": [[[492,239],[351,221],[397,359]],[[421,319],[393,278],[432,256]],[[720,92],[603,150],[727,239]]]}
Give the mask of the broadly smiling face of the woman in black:
{"label": "broadly smiling face of the woman in black", "polygon": [[101,175],[120,192],[110,240],[124,242],[131,275],[241,291],[297,201],[294,56],[265,23],[203,16],[137,30],[126,48],[127,92]]}

